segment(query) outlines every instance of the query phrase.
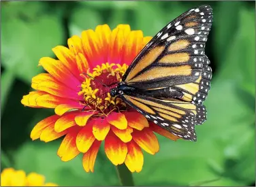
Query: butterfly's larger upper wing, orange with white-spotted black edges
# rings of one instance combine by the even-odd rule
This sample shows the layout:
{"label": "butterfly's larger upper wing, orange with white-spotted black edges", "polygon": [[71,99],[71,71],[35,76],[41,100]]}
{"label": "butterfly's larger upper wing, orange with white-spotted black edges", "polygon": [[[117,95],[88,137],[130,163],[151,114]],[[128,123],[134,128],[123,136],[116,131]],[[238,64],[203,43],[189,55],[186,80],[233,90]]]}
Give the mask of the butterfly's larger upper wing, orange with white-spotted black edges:
{"label": "butterfly's larger upper wing, orange with white-spotted black edges", "polygon": [[167,24],[134,59],[123,82],[137,88],[187,84],[203,71],[204,47],[212,25],[212,8],[202,5]]}

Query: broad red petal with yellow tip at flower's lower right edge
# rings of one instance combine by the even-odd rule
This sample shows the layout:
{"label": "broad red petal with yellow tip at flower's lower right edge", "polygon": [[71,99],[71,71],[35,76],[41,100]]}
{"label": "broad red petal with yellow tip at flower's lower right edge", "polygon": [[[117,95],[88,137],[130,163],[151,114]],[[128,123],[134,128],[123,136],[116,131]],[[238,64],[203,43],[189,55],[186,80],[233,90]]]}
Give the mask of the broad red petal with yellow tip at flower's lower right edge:
{"label": "broad red petal with yellow tip at flower's lower right edge", "polygon": [[159,152],[159,143],[156,135],[149,128],[144,128],[142,131],[133,131],[133,140],[149,154]]}

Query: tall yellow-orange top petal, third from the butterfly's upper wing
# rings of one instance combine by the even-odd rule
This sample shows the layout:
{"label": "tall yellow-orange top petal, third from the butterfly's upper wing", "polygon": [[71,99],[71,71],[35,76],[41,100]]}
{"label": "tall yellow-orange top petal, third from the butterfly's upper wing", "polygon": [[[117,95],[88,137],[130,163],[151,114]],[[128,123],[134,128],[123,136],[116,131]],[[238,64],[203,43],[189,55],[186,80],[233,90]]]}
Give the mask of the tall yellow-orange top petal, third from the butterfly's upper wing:
{"label": "tall yellow-orange top petal, third from the butterfly's upper wing", "polygon": [[110,48],[109,48],[109,63],[121,63],[123,56],[123,47],[127,36],[131,32],[128,24],[119,24],[110,35]]}

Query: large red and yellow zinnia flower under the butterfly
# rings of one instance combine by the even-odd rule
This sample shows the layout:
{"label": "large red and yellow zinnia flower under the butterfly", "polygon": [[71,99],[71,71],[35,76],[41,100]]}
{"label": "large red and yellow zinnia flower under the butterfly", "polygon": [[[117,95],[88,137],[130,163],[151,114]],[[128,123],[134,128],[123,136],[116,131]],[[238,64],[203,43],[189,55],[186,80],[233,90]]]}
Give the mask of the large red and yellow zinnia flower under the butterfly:
{"label": "large red and yellow zinnia flower under the butterfly", "polygon": [[131,172],[142,170],[142,150],[159,151],[154,132],[178,137],[150,123],[121,99],[110,96],[110,88],[121,81],[133,58],[152,37],[119,24],[113,31],[99,25],[82,37],[68,39],[69,48],[57,46],[55,60],[39,60],[48,73],[32,79],[35,91],[21,103],[29,107],[54,108],[55,115],[36,124],[31,139],[52,141],[65,136],[57,154],[68,161],[83,153],[84,170],[93,172],[102,141],[106,156],[114,165],[125,163]]}

